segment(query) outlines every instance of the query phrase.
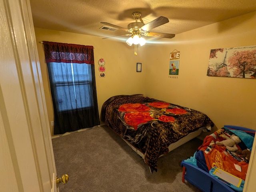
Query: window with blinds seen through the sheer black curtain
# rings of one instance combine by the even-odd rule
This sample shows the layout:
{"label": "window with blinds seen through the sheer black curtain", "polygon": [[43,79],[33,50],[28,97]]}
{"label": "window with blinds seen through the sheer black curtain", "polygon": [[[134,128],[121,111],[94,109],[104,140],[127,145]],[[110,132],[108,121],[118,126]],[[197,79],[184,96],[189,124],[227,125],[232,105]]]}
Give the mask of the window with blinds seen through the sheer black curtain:
{"label": "window with blinds seen through the sheer black curtain", "polygon": [[58,111],[92,107],[91,65],[85,63],[50,63]]}

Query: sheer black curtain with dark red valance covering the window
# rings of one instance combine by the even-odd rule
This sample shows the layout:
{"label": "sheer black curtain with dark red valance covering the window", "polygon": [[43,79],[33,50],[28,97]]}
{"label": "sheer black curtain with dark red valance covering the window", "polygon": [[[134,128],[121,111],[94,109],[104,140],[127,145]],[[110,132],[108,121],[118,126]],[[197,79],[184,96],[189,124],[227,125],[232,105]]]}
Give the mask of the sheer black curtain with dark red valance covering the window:
{"label": "sheer black curtain with dark red valance covering the window", "polygon": [[44,41],[54,134],[100,125],[92,46]]}

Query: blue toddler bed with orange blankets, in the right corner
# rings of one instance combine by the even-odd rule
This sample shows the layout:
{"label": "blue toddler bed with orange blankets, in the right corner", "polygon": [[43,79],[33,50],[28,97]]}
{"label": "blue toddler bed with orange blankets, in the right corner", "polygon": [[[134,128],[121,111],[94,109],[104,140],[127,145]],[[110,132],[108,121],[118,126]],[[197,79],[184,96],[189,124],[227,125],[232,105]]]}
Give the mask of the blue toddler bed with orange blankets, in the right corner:
{"label": "blue toddler bed with orange blankets, in the right corner", "polygon": [[[232,135],[240,139],[234,148],[218,143]],[[242,192],[250,157],[241,151],[252,151],[254,136],[255,130],[233,125],[206,136],[194,155],[182,161],[182,182],[187,180],[204,192]]]}

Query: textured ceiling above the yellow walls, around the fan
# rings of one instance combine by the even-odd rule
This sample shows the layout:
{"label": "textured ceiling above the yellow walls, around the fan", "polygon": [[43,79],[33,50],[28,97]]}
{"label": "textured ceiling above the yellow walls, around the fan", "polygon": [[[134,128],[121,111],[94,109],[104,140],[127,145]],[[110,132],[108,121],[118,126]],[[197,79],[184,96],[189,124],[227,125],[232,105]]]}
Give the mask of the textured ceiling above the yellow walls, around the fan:
{"label": "textured ceiling above the yellow walls, around the fan", "polygon": [[164,16],[169,23],[152,29],[182,33],[256,11],[256,0],[30,0],[35,27],[112,37],[126,31],[100,29],[100,22],[127,27],[141,12],[145,24]]}

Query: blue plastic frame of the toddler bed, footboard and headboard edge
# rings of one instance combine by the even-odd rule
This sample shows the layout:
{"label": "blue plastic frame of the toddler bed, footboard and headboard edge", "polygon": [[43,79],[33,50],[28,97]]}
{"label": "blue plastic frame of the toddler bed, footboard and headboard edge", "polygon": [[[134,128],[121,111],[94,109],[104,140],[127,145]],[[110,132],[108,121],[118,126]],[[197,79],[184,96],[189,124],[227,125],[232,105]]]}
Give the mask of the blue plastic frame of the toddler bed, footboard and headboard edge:
{"label": "blue plastic frame of the toddler bed, footboard and headboard edge", "polygon": [[[255,134],[255,130],[245,127],[238,127],[234,125],[224,125],[224,127],[240,131],[248,131]],[[208,172],[190,163],[186,163],[184,160],[182,161],[181,166],[183,167],[182,182],[187,180],[204,192],[236,192],[222,181],[210,175]]]}

